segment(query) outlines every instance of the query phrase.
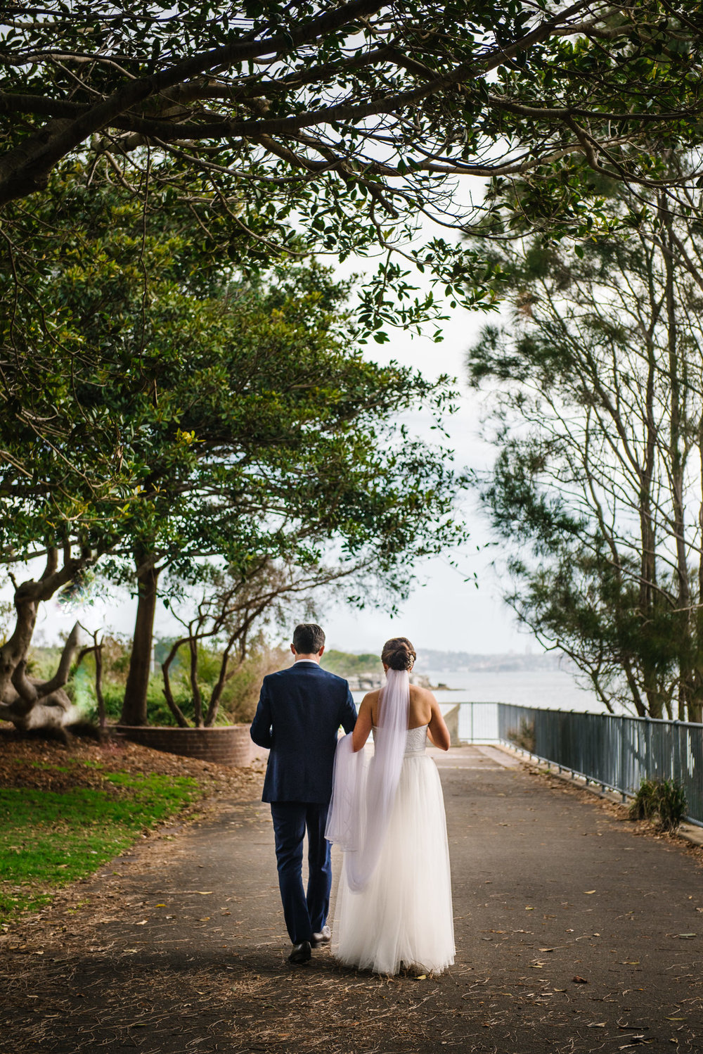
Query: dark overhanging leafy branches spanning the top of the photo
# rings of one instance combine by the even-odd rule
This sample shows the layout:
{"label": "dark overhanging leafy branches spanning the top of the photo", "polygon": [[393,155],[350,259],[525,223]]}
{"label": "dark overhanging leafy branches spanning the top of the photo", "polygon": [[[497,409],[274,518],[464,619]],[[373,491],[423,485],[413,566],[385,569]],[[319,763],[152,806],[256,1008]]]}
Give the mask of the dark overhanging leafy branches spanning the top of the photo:
{"label": "dark overhanging leafy branches spanning the top of the photo", "polygon": [[[656,0],[11,4],[0,203],[80,158],[92,186],[157,188],[203,229],[226,217],[255,256],[296,251],[302,225],[315,252],[397,249],[465,298],[465,252],[414,246],[418,220],[470,225],[465,176],[520,176],[529,214],[559,202],[577,230],[574,164],[666,183],[650,144],[700,140],[702,30],[698,4]],[[369,326],[431,311],[391,287],[407,294],[386,260]],[[493,295],[489,271],[474,290]]]}

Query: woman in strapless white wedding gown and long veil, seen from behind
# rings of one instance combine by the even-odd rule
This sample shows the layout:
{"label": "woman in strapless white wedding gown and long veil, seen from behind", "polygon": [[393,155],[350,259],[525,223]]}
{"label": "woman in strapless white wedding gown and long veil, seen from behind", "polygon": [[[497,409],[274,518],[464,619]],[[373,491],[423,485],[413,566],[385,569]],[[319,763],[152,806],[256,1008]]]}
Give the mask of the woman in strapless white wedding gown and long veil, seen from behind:
{"label": "woman in strapless white wedding gown and long veil, seen from behind", "polygon": [[409,683],[415,659],[405,637],[384,645],[385,687],[364,697],[337,747],[326,832],[344,851],[335,955],[379,974],[440,973],[454,962],[444,800],[424,753],[427,736],[448,749],[449,734],[433,694]]}

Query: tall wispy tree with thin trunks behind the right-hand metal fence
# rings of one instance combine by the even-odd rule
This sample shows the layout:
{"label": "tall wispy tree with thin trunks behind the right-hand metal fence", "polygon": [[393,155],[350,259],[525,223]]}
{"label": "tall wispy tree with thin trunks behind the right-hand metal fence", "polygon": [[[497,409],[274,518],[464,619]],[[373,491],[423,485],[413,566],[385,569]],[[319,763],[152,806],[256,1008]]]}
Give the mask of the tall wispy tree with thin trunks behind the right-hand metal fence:
{"label": "tall wispy tree with thin trunks behind the right-hand metal fence", "polygon": [[467,359],[483,501],[520,620],[609,708],[700,721],[703,226],[661,192],[618,203],[619,238],[497,250],[511,313]]}

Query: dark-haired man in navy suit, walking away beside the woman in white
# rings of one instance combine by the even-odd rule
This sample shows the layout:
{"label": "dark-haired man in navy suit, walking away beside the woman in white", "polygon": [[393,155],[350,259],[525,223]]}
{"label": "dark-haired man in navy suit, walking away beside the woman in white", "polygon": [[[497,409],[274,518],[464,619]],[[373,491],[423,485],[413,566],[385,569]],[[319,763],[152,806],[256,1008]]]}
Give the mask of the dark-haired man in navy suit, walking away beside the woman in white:
{"label": "dark-haired man in navy suit, walking away beside the woman in white", "polygon": [[[264,678],[252,739],[270,748],[262,800],[270,802],[283,916],[293,941],[289,962],[307,962],[310,949],[329,941],[329,842],[324,837],[332,795],[337,734],[352,731],[357,709],[346,681],[320,668],[324,633],[315,623],[296,626],[288,669]],[[303,838],[307,831],[307,894]]]}

